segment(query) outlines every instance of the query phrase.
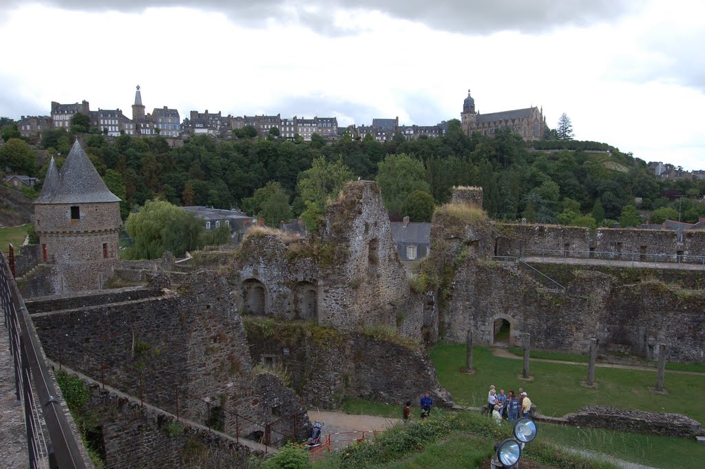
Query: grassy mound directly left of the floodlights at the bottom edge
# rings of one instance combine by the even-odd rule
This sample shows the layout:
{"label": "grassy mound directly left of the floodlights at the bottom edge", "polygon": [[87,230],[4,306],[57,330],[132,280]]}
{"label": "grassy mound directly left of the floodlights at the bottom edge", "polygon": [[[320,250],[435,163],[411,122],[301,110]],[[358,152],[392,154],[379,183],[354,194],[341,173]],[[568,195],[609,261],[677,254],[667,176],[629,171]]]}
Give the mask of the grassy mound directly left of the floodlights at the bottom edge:
{"label": "grassy mound directly left of the floodlights at the bottom edge", "polygon": [[486,439],[479,439],[468,434],[458,434],[446,441],[427,446],[427,449],[415,454],[407,461],[400,461],[384,467],[387,469],[474,469],[489,459],[493,452],[491,443]]}

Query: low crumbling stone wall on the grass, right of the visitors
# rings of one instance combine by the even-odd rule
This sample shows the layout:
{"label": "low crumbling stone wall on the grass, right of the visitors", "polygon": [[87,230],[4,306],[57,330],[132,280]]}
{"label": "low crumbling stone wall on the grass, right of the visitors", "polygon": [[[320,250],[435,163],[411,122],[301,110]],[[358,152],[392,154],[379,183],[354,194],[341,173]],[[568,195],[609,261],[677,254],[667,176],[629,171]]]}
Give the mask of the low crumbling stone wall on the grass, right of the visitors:
{"label": "low crumbling stone wall on the grass, right of the visitors", "polygon": [[705,435],[700,423],[677,413],[646,412],[609,406],[587,406],[568,417],[570,425],[606,428],[675,438]]}

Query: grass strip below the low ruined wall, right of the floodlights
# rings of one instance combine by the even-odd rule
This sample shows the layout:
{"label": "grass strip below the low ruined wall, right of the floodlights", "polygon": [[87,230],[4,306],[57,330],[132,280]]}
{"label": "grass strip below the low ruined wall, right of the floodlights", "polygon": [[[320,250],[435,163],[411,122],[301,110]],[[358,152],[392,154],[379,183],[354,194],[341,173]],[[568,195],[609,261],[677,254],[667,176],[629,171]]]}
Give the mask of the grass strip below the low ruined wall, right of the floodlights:
{"label": "grass strip below the low ruined wall, right of the floodlights", "polygon": [[654,468],[698,468],[705,461],[705,445],[686,439],[548,424],[541,424],[538,438],[560,446],[611,454]]}

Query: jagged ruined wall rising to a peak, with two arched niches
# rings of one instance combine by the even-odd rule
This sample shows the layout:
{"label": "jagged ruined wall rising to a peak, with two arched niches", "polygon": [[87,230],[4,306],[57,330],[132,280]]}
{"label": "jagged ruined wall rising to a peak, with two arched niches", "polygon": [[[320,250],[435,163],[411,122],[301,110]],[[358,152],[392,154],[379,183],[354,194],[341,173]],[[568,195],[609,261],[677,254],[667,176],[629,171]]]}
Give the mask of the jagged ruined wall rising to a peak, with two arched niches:
{"label": "jagged ruined wall rising to a peak, with two arched niches", "polygon": [[386,324],[421,334],[422,308],[412,297],[375,183],[348,184],[328,207],[320,233],[307,240],[253,231],[234,264],[243,312],[316,319],[347,331]]}

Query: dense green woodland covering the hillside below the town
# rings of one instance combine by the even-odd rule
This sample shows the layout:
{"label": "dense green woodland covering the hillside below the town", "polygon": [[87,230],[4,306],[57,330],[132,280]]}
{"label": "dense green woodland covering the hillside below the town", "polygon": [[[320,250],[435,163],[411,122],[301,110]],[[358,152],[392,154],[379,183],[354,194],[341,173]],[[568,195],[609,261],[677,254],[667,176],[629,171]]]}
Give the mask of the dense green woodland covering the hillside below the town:
{"label": "dense green woodland covering the hillside below the town", "polygon": [[[7,129],[11,126],[4,134]],[[639,214],[652,211],[656,219],[705,217],[705,204],[698,202],[705,181],[659,181],[646,162],[598,142],[527,144],[509,130],[492,138],[467,136],[459,121],[451,121],[441,138],[407,141],[399,134],[386,143],[370,135],[361,140],[344,135],[336,142],[318,135],[311,142],[258,138],[248,130],[231,140],[198,135],[176,148],[160,137],[87,133],[81,141],[109,188],[125,200],[123,217],[161,198],[174,205],[241,207],[270,224],[300,215],[313,223],[326,199],[357,178],[378,181],[392,217],[409,214],[412,221],[429,221],[434,205],[447,202],[454,185],[482,186],[484,208],[503,220],[594,227],[613,221],[634,226],[646,221]],[[47,165],[36,169],[31,158],[18,156],[32,153],[31,147],[12,138],[16,135],[4,136],[0,166],[42,177]],[[37,144],[59,154],[61,164],[74,138],[49,130]],[[638,207],[635,197],[643,200]]]}

